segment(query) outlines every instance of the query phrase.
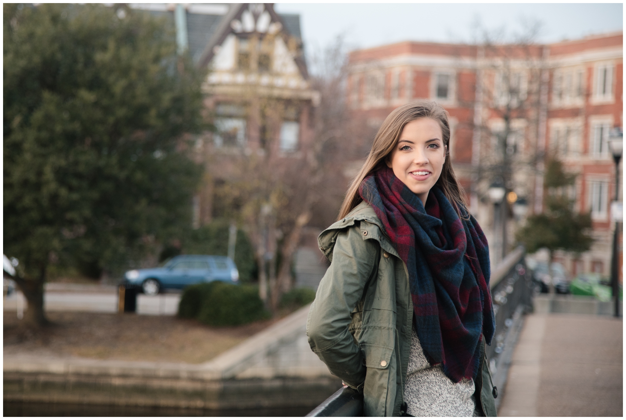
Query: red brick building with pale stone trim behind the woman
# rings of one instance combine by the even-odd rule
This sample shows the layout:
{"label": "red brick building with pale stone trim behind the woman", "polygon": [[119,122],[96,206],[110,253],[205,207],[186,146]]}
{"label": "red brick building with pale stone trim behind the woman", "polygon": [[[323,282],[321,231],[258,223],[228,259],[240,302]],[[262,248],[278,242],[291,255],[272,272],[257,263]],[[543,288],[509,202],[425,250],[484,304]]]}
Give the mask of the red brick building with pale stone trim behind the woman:
{"label": "red brick building with pale stone trim behind the woman", "polygon": [[[558,156],[579,174],[571,193],[578,211],[592,212],[595,242],[589,252],[557,259],[572,274],[608,275],[615,165],[607,140],[623,126],[622,45],[622,33],[613,33],[545,45],[403,42],[362,49],[350,54],[347,103],[372,128],[417,99],[448,110],[454,168],[492,249],[502,240],[513,244],[524,220],[516,210],[526,204],[529,212],[542,211],[543,162]],[[517,205],[510,207],[516,215],[509,213],[508,235],[494,231],[488,200],[490,168],[497,165],[510,168],[506,187],[515,194],[507,198]]]}

